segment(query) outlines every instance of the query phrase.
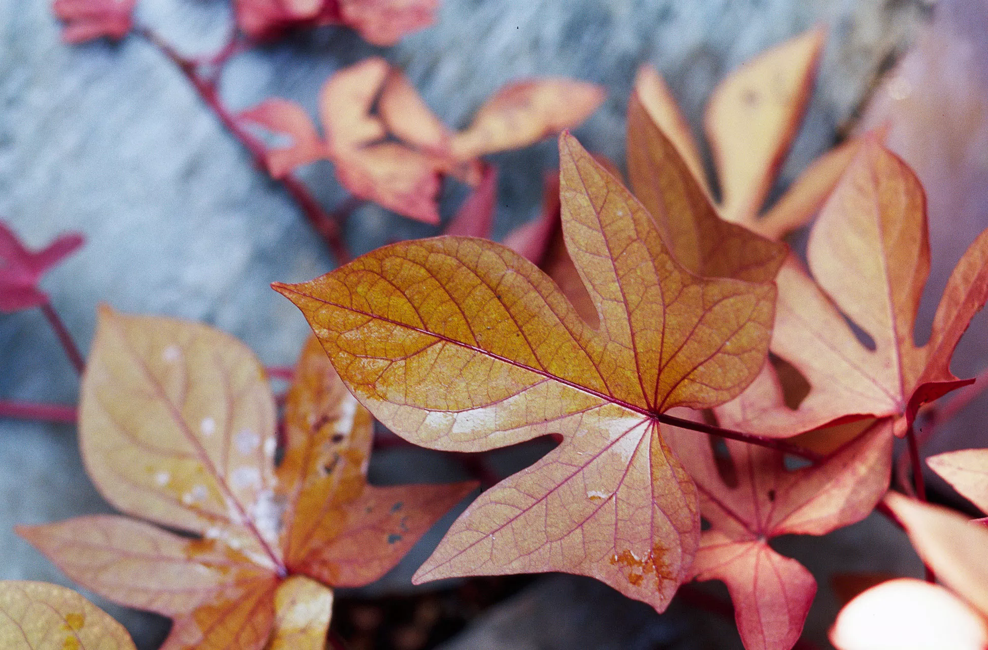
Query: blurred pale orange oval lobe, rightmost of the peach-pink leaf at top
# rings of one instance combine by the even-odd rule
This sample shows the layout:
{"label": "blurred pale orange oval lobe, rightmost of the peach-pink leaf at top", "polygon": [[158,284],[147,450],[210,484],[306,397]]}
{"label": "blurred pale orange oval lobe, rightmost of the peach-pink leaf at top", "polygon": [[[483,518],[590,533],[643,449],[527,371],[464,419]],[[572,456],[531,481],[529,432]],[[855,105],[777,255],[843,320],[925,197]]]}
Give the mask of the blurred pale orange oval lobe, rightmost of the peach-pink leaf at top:
{"label": "blurred pale orange oval lobe, rightmost of the peach-pink leaf at top", "polygon": [[515,82],[495,93],[469,128],[453,136],[453,155],[468,160],[534,144],[589,118],[605,96],[600,86],[570,79]]}

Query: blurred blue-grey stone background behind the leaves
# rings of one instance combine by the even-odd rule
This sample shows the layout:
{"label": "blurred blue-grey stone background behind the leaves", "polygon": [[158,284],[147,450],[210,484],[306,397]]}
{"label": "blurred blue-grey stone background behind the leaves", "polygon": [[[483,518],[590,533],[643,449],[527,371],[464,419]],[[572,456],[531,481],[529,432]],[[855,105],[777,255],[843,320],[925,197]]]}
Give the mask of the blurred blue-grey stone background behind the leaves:
{"label": "blurred blue-grey stone background behind the leaves", "polygon": [[[140,0],[137,9],[142,22],[190,54],[223,43],[230,11],[226,0]],[[406,71],[445,122],[462,126],[508,81],[570,76],[608,89],[603,108],[576,133],[620,161],[639,64],[663,73],[700,134],[705,99],[724,74],[816,25],[828,30],[822,67],[777,194],[854,129],[890,125],[888,142],[917,169],[930,196],[934,261],[918,330],[923,341],[949,271],[988,226],[983,0],[444,0],[433,27],[394,47],[373,47],[342,28],[296,34],[236,56],[221,88],[233,109],[277,96],[314,111],[329,74],[381,54]],[[555,156],[550,140],[493,157],[501,173],[495,235],[535,217],[542,174]],[[327,207],[343,200],[328,163],[302,176]],[[445,218],[463,193],[448,194]],[[84,350],[96,305],[106,301],[128,312],[205,321],[245,341],[265,364],[291,365],[309,330],[269,284],[309,280],[334,266],[288,195],[252,167],[167,59],[132,38],[63,44],[48,0],[0,0],[0,217],[33,247],[65,230],[85,234],[86,246],[43,283]],[[437,233],[367,204],[349,220],[346,239],[360,254]],[[988,366],[986,341],[982,315],[961,342],[955,373],[973,376]],[[0,397],[69,403],[77,385],[38,310],[0,315]],[[926,451],[988,446],[986,415],[988,399],[981,398]],[[72,427],[0,421],[0,578],[65,583],[12,527],[109,511],[77,448]],[[378,453],[371,468],[376,482],[461,475],[418,452]],[[360,628],[403,616],[412,631],[389,628],[378,647],[418,650],[426,642],[414,633],[422,620],[461,607],[453,616],[460,622],[443,633],[451,637],[441,646],[447,650],[740,647],[729,621],[682,603],[659,616],[570,576],[454,583],[434,597],[409,596],[411,573],[441,534],[434,530],[380,584],[342,595],[335,624]],[[782,539],[778,547],[820,583],[806,631],[821,648],[838,609],[832,574],[921,571],[904,536],[873,516],[823,539]],[[156,648],[167,631],[165,619],[97,602],[142,649]]]}

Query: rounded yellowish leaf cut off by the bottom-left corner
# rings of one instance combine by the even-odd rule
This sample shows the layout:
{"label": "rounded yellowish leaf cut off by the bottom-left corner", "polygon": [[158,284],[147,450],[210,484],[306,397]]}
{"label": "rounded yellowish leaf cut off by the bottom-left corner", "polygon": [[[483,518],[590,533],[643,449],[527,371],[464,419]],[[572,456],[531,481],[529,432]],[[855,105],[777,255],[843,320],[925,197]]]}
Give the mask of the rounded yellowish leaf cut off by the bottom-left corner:
{"label": "rounded yellowish leaf cut off by the bottom-left corner", "polygon": [[0,581],[5,650],[135,650],[124,626],[79,594],[41,582]]}

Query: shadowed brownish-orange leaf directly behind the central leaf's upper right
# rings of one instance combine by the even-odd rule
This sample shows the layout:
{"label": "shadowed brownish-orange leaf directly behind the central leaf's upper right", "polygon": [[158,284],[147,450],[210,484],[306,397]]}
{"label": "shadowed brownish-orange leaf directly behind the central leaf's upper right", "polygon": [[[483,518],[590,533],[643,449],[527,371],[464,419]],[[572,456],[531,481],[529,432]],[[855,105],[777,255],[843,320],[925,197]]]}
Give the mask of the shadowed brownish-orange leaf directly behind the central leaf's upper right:
{"label": "shadowed brownish-orange leaf directly behind the central leaf's upper right", "polygon": [[785,244],[717,216],[680,150],[633,92],[627,107],[631,187],[655,217],[676,259],[700,276],[772,282],[785,259]]}

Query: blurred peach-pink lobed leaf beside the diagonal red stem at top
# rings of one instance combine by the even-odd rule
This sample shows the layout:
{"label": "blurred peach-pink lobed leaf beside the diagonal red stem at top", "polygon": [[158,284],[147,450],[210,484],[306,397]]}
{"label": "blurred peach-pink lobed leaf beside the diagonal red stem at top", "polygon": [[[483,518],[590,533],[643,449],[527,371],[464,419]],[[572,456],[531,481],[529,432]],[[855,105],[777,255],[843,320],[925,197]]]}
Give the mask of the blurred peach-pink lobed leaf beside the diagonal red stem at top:
{"label": "blurred peach-pink lobed leaf beside the diagonal red stem at top", "polygon": [[[405,5],[417,11],[419,4],[419,0],[356,0],[347,6],[373,13],[385,6]],[[276,178],[327,158],[335,164],[340,183],[355,197],[438,225],[442,176],[477,185],[484,170],[478,156],[526,146],[575,126],[596,110],[603,97],[603,89],[593,84],[561,79],[524,82],[502,90],[481,110],[475,121],[479,131],[453,134],[404,74],[383,58],[371,56],[338,70],[324,84],[319,94],[324,138],[305,111],[286,100],[269,100],[240,117],[292,138],[291,146],[267,152],[269,171]],[[479,141],[478,137],[492,133],[495,140],[487,144],[493,148],[456,150],[457,142]]]}

